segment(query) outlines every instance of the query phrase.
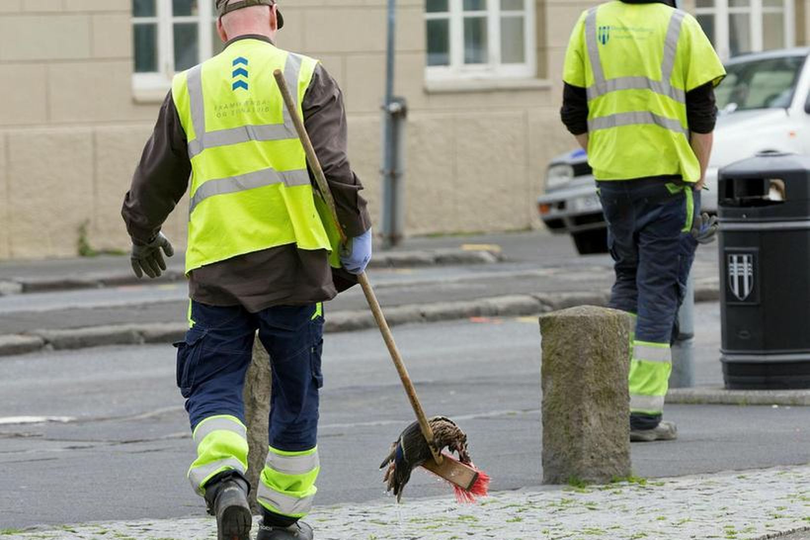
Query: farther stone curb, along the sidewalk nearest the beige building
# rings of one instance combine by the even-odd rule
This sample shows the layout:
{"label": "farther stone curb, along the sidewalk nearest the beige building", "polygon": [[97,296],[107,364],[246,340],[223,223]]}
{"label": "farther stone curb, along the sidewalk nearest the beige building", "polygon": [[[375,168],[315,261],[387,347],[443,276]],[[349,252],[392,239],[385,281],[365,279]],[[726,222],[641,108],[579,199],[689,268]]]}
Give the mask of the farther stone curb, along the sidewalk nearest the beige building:
{"label": "farther stone curb, along the sidewalk nearest the beige building", "polygon": [[[392,251],[373,255],[369,268],[413,268],[424,266],[450,266],[461,264],[494,264],[503,260],[501,254],[492,249],[464,250],[441,249],[425,251]],[[169,268],[162,276],[151,283],[173,283],[184,281],[182,270]],[[106,274],[87,274],[81,277],[19,277],[0,281],[0,296],[26,293],[48,293],[59,290],[100,289],[122,285],[139,285],[139,280],[129,270]]]}

